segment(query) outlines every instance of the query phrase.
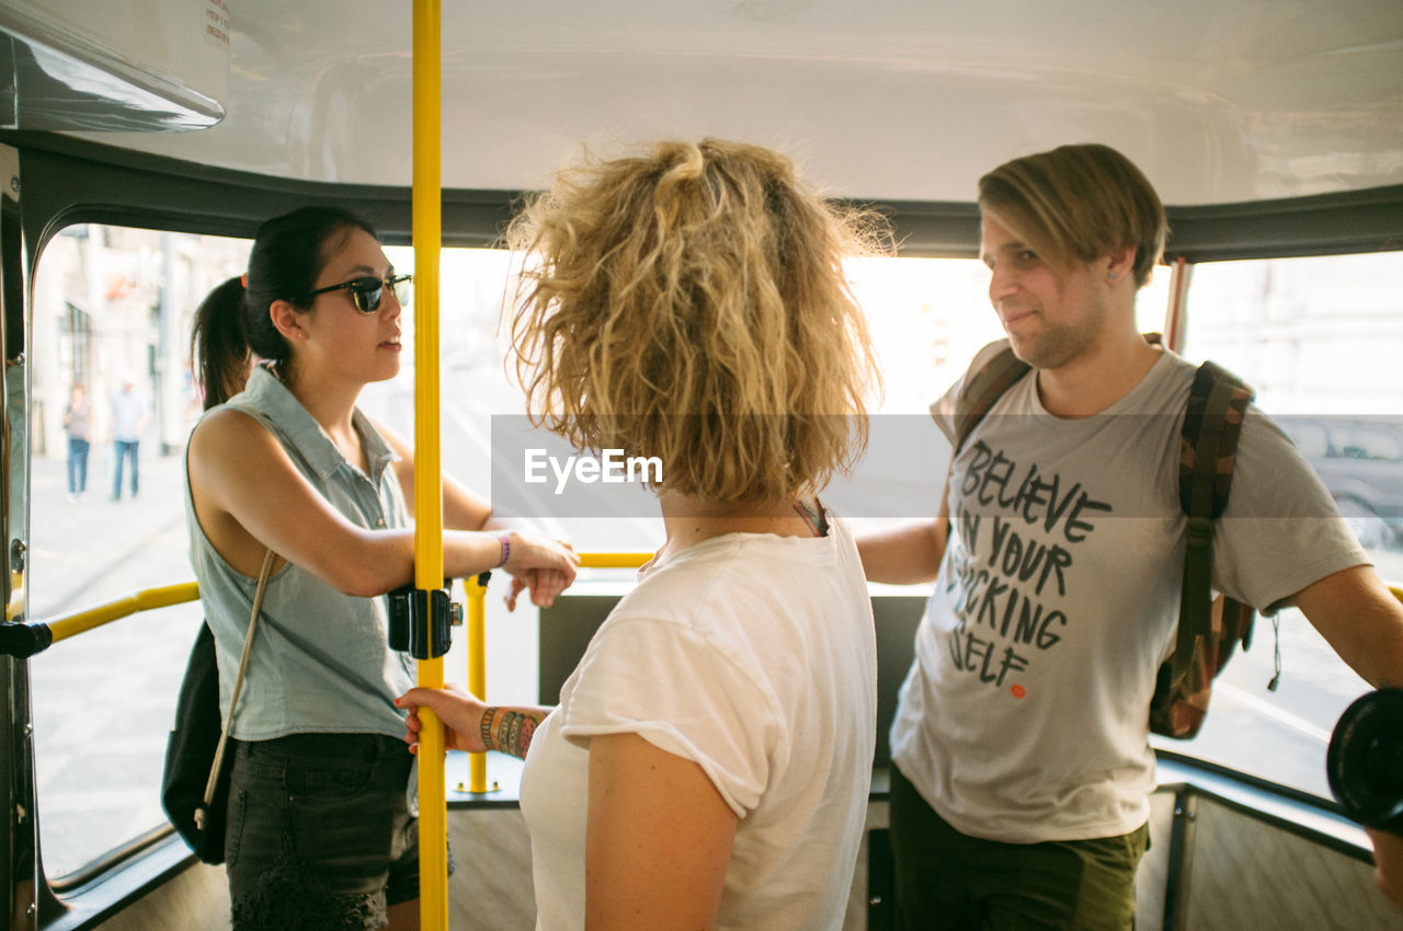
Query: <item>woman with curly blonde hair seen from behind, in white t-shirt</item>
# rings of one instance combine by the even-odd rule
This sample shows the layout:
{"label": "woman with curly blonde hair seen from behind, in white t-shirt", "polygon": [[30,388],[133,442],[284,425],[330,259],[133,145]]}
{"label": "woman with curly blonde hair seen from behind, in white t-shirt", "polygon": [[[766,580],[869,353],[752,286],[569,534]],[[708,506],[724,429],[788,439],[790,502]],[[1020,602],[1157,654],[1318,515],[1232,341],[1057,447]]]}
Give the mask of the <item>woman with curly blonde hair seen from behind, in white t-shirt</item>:
{"label": "woman with curly blonde hair seen from behind, in white t-shirt", "polygon": [[[860,215],[779,153],[588,164],[513,226],[532,415],[662,460],[666,543],[554,711],[414,690],[459,749],[526,760],[542,928],[840,928],[875,740],[871,602],[815,498],[866,437]],[[408,739],[418,716],[410,715]]]}

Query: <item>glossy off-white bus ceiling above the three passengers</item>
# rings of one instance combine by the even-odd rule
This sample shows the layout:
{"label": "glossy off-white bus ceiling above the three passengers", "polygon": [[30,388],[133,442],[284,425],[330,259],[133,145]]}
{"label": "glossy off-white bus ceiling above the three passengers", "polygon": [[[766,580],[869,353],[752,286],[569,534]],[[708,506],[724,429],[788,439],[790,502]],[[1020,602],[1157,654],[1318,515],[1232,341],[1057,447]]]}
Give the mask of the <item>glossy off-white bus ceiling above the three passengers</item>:
{"label": "glossy off-white bus ceiling above the three passengers", "polygon": [[[46,168],[83,158],[119,189],[67,195],[45,229],[118,215],[250,234],[288,203],[349,198],[407,238],[407,7],[136,6],[0,6],[14,66],[0,74],[17,76],[0,125],[29,156],[27,215],[46,150]],[[1403,248],[1397,0],[445,4],[443,105],[452,244],[490,243],[513,193],[582,147],[711,135],[777,146],[833,196],[890,205],[913,255],[972,255],[981,174],[1089,140],[1150,177],[1174,255]]]}

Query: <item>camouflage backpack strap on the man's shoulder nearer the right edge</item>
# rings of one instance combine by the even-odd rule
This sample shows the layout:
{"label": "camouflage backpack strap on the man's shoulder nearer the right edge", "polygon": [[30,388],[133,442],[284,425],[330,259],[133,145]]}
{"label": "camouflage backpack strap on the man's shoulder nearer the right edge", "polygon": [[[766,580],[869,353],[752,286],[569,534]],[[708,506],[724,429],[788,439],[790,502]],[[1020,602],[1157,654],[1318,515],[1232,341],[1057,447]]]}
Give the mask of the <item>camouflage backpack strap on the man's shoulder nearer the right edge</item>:
{"label": "camouflage backpack strap on the man's shoulder nearer the right edge", "polygon": [[[1200,638],[1212,634],[1214,520],[1228,506],[1237,437],[1253,391],[1212,362],[1198,366],[1179,440],[1179,502],[1188,516],[1174,677],[1188,670]],[[1225,604],[1242,610],[1236,603]],[[1212,672],[1207,673],[1207,679]]]}

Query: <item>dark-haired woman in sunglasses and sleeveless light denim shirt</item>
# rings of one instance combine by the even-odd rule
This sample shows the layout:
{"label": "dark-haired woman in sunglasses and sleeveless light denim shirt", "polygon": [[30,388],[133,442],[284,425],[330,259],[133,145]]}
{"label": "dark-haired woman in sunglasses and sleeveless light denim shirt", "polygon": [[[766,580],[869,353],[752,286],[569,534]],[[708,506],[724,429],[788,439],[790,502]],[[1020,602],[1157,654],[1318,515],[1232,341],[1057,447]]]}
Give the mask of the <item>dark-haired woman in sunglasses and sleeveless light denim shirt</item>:
{"label": "dark-haired woman in sunglasses and sleeveless light denim shirt", "polygon": [[[233,927],[418,927],[411,757],[386,592],[411,583],[412,451],[358,408],[400,370],[400,287],[362,220],[304,208],[264,223],[248,272],[196,311],[208,412],[187,449],[191,558],[215,634],[222,712],[264,555],[276,554],[233,716],[224,857]],[[251,365],[251,359],[260,359]],[[443,571],[502,566],[549,604],[568,548],[488,531],[443,484]]]}

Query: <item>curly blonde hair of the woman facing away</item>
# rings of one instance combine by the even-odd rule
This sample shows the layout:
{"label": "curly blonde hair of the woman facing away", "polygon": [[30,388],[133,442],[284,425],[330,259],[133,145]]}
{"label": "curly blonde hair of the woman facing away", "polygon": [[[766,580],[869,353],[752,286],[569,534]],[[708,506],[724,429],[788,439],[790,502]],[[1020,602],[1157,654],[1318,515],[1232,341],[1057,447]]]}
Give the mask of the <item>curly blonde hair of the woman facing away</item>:
{"label": "curly blonde hair of the woman facing away", "polygon": [[846,254],[884,222],[769,149],[706,139],[560,172],[516,216],[516,377],[577,449],[662,461],[657,492],[779,502],[866,449],[880,386]]}

